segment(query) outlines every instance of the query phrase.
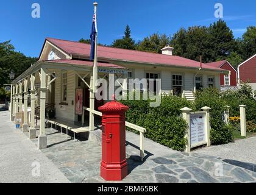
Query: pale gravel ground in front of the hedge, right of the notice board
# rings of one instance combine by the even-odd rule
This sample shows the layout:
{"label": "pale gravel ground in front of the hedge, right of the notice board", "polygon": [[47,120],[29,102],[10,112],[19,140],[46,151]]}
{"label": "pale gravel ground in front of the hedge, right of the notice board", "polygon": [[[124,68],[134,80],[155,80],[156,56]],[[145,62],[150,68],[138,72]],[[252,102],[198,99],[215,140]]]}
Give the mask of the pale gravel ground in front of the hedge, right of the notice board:
{"label": "pale gravel ground in front of the hedge, right of the notice board", "polygon": [[193,152],[256,164],[256,137],[221,146],[210,146]]}

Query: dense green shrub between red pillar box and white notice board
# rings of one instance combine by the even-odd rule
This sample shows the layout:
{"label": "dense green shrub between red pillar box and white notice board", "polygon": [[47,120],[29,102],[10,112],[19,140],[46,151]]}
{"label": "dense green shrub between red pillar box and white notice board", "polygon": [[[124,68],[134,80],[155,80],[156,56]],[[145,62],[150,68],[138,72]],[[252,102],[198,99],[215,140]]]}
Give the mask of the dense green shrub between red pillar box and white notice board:
{"label": "dense green shrub between red pillar box and white notice board", "polygon": [[177,96],[163,96],[159,107],[149,107],[150,101],[121,102],[130,108],[126,120],[146,128],[147,138],[176,151],[185,150],[187,122],[182,119],[180,109],[193,108],[190,101]]}

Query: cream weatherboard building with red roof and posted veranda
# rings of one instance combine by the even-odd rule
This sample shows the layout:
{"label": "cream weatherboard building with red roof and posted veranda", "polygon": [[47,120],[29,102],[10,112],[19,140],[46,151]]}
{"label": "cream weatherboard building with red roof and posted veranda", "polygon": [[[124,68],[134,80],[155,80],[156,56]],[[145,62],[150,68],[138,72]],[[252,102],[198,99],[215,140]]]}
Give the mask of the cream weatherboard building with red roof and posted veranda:
{"label": "cream weatherboard building with red roof and posted veranda", "polygon": [[[98,77],[109,79],[109,73],[112,73],[115,79],[161,79],[162,93],[180,94],[193,100],[196,89],[220,88],[220,75],[229,74],[229,71],[221,68],[174,56],[172,49],[168,46],[162,49],[163,54],[152,54],[98,46]],[[55,118],[59,121],[82,124],[88,118],[89,124],[84,127],[84,132],[94,130],[94,115],[99,114],[96,110],[104,102],[95,100],[95,94],[91,90],[93,62],[89,59],[90,44],[46,38],[38,62],[13,80],[12,121],[15,120],[16,113],[24,112],[23,130],[30,130],[33,137],[35,110],[39,110],[39,148],[47,146],[44,119],[45,108],[48,106],[54,107]],[[129,82],[124,82],[121,86],[126,90]],[[76,114],[77,88],[83,88],[83,105],[89,115],[84,112],[82,116]],[[30,120],[27,120],[28,102]]]}

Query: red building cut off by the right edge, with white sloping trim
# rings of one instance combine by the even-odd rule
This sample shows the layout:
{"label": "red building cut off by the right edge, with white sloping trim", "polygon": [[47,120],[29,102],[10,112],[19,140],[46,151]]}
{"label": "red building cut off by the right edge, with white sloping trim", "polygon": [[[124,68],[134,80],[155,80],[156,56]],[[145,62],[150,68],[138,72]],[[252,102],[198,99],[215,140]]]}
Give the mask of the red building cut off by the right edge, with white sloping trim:
{"label": "red building cut off by the right edge, with white sloping trim", "polygon": [[256,90],[256,54],[238,66],[238,80],[244,83],[249,81]]}

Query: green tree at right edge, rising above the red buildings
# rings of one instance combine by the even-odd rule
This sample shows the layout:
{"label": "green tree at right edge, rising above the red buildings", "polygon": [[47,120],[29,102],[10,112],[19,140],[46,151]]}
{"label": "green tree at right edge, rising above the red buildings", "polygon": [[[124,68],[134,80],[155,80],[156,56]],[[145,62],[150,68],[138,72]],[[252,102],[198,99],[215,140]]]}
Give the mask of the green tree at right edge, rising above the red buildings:
{"label": "green tree at right edge, rising above the red buildings", "polygon": [[247,31],[242,37],[242,54],[244,60],[256,54],[256,26],[247,27]]}

